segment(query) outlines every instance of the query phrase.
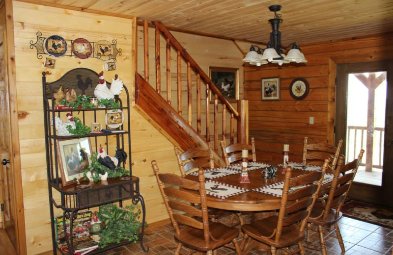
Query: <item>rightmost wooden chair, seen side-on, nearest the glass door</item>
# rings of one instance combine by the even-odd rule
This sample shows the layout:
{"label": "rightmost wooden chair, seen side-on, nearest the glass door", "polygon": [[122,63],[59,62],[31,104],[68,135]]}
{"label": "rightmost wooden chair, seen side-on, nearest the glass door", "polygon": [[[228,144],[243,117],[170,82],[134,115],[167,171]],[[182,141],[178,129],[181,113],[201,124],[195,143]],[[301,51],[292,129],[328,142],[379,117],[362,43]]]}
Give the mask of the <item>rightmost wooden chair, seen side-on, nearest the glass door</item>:
{"label": "rightmost wooden chair, seen side-on, nearest the glass door", "polygon": [[[312,230],[311,224],[318,226],[320,248],[309,245],[307,247],[321,251],[322,255],[327,254],[325,237],[329,236],[335,231],[337,233],[336,237],[341,248],[341,254],[345,252],[344,243],[342,242],[342,237],[337,222],[342,217],[340,210],[344,204],[349,190],[351,189],[353,179],[355,178],[359,164],[362,161],[363,153],[365,153],[365,151],[361,150],[357,159],[344,166],[342,166],[344,157],[342,155],[339,156],[337,169],[334,173],[334,178],[330,187],[327,201],[323,204],[315,204],[311,211],[307,225],[307,241],[309,242],[310,240],[310,230]],[[350,172],[347,173],[348,171]],[[335,228],[331,229],[331,226],[334,226]],[[328,227],[330,229],[327,234],[324,233],[324,227]]]}

